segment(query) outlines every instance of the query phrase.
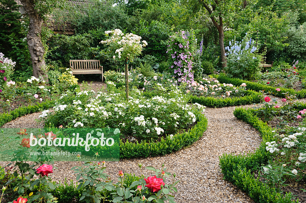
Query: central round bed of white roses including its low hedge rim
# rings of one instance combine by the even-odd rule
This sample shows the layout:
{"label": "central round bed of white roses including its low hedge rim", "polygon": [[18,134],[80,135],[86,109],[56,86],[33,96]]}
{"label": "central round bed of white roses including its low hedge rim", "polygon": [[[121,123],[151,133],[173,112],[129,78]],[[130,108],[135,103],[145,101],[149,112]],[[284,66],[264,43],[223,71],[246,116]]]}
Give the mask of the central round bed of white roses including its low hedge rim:
{"label": "central round bed of white roses including its low hedge rim", "polygon": [[[177,86],[159,87],[165,92],[153,97],[134,89],[129,101],[112,82],[108,82],[108,94],[67,92],[54,106],[54,113],[43,111],[40,117],[48,127],[120,129],[124,135],[121,158],[165,155],[197,141],[207,128],[207,119],[202,114],[205,107],[188,105],[188,95],[183,95]],[[188,132],[181,133],[185,129]]]}

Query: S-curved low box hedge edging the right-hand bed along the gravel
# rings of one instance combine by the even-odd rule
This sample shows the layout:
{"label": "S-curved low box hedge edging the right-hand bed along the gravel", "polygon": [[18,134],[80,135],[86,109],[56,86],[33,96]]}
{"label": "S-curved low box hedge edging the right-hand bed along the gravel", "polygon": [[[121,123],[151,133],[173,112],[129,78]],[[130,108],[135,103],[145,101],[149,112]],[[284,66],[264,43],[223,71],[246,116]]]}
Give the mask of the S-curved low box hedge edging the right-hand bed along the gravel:
{"label": "S-curved low box hedge edging the right-hand bed along the gravel", "polygon": [[[237,119],[251,124],[262,135],[263,141],[254,153],[248,154],[223,154],[219,157],[220,168],[224,177],[248,193],[255,202],[258,203],[292,203],[292,194],[285,195],[277,193],[275,188],[271,188],[262,183],[259,178],[255,179],[252,174],[253,168],[259,168],[261,164],[266,164],[271,155],[266,150],[266,142],[274,141],[273,128],[261,121],[254,115],[254,109],[235,109],[234,116]],[[298,201],[297,201],[298,202]]]}

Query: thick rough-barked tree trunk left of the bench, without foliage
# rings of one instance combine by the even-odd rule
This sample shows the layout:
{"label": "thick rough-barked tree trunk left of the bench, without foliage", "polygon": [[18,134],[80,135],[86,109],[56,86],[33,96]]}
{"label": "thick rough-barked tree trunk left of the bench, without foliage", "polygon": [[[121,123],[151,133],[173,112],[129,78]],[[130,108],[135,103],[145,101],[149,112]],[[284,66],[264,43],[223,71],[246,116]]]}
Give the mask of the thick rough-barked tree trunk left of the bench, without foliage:
{"label": "thick rough-barked tree trunk left of the bench, without foliage", "polygon": [[44,58],[45,49],[43,47],[43,42],[41,41],[43,18],[39,15],[37,10],[35,10],[33,0],[21,0],[21,3],[30,20],[27,42],[32,59],[33,76],[36,78],[42,77],[46,82],[48,82],[48,74]]}

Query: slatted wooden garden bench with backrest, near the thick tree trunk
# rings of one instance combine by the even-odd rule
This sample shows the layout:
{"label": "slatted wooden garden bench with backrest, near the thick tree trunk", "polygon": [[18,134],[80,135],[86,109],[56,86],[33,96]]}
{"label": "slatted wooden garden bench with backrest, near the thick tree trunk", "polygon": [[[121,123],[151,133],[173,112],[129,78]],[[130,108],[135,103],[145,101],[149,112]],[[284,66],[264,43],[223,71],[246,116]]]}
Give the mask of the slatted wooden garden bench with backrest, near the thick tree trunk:
{"label": "slatted wooden garden bench with backrest, near the thick tree trunk", "polygon": [[69,65],[73,74],[101,74],[103,81],[103,66],[100,60],[70,60]]}

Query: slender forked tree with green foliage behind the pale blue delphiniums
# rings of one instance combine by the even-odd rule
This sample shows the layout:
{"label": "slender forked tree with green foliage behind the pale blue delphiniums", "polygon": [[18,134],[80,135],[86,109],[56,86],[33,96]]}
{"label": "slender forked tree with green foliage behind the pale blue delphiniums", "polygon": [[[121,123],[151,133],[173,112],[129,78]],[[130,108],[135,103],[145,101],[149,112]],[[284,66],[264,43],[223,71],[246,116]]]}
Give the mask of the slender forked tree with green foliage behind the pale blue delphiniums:
{"label": "slender forked tree with green foliage behind the pale blue delphiniums", "polygon": [[237,16],[247,7],[242,0],[200,0],[207,15],[218,30],[222,67],[226,67],[224,48],[224,29],[229,27]]}

